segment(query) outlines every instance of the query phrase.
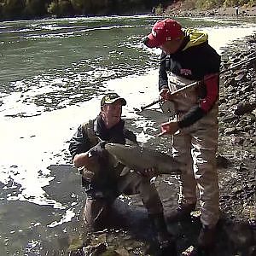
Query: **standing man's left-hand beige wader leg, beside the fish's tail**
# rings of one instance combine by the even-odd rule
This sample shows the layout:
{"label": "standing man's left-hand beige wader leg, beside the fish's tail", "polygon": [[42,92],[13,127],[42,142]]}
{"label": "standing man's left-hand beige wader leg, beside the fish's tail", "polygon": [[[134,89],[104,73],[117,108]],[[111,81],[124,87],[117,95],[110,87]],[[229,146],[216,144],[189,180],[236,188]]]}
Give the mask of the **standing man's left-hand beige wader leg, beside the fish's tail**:
{"label": "standing man's left-hand beige wader leg, beside the fish's tail", "polygon": [[196,182],[191,157],[191,137],[179,132],[172,137],[172,154],[180,163],[182,174],[179,178],[179,198],[181,205],[196,203]]}

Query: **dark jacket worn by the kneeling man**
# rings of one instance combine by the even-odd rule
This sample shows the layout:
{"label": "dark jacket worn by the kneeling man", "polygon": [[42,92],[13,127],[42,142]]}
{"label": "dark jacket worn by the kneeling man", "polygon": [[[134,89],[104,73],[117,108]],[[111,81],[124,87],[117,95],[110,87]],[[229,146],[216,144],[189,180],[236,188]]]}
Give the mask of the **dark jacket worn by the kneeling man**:
{"label": "dark jacket worn by the kneeling man", "polygon": [[[87,125],[87,126],[86,126]],[[90,127],[91,126],[91,127]],[[89,127],[87,130],[84,127]],[[88,129],[92,130],[92,134],[88,134]],[[72,157],[76,154],[85,153],[90,148],[96,145],[95,137],[101,138],[103,141],[109,143],[121,143],[125,144],[125,139],[137,143],[136,135],[125,128],[125,121],[120,120],[117,125],[114,125],[111,129],[107,129],[101,115],[96,119],[90,120],[89,123],[80,125],[70,140],[69,151]],[[118,195],[117,181],[119,173],[122,171],[122,165],[116,167],[109,166],[108,162],[99,159],[100,173],[97,175],[92,174],[89,170],[84,170],[82,176],[82,185],[85,188],[85,192],[92,198],[97,198],[99,195],[105,198],[114,198]],[[86,174],[88,174],[87,177]]]}

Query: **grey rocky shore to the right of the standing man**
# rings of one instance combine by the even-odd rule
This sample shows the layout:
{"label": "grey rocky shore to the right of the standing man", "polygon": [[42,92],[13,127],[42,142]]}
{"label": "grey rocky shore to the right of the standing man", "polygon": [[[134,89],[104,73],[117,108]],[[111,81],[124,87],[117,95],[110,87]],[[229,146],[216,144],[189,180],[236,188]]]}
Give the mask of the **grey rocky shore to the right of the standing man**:
{"label": "grey rocky shore to the right of the standing man", "polygon": [[[256,37],[233,42],[222,56],[219,96],[221,207],[228,218],[256,220]],[[239,63],[244,64],[239,65]],[[225,72],[224,72],[225,71]]]}

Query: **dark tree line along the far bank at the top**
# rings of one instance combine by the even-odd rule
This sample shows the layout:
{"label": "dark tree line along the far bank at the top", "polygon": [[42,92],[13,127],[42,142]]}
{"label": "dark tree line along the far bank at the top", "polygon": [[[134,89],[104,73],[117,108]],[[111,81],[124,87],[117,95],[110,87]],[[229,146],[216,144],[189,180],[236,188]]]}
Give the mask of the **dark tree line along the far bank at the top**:
{"label": "dark tree line along the far bank at the top", "polygon": [[[256,0],[182,0],[198,9],[221,6],[256,5]],[[35,19],[46,16],[125,15],[148,13],[153,7],[165,9],[177,0],[0,0],[0,20]]]}

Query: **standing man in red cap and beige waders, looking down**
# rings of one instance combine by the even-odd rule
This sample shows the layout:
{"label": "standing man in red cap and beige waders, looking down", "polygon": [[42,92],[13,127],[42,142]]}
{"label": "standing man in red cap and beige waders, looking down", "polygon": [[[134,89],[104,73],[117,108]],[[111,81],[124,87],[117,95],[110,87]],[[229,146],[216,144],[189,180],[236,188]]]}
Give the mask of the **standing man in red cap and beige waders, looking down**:
{"label": "standing man in red cap and beige waders, looking down", "polygon": [[[219,191],[216,166],[218,147],[218,84],[220,56],[208,44],[207,33],[182,29],[171,19],[157,21],[143,43],[162,49],[160,58],[160,100],[172,101],[176,119],[161,126],[162,135],[173,135],[172,154],[183,165],[179,206],[171,220],[189,218],[195,210],[196,189],[201,206],[198,246],[214,244],[219,218]],[[169,80],[169,81],[168,81]],[[170,96],[198,81],[198,86]]]}

